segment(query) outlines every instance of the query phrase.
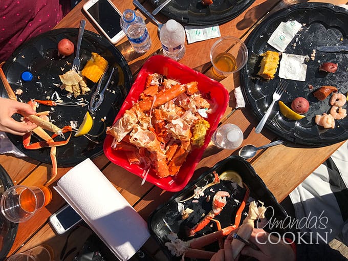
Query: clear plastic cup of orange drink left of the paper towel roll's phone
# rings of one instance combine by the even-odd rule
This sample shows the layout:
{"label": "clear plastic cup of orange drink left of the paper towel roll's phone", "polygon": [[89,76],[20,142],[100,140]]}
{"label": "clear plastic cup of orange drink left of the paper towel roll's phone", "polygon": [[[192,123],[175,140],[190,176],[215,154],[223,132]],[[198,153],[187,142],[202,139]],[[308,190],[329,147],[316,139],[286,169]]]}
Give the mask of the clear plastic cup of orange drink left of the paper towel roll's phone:
{"label": "clear plastic cup of orange drink left of the paper towel roll's phone", "polygon": [[0,201],[3,215],[11,222],[21,223],[45,207],[52,199],[52,192],[45,186],[16,185],[8,188]]}

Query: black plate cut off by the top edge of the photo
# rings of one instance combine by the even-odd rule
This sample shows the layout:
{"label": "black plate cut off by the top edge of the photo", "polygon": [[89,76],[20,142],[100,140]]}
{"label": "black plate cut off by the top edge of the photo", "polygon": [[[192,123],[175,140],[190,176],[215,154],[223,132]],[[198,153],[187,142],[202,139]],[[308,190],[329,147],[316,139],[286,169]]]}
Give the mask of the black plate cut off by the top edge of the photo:
{"label": "black plate cut off by the top edge of the photo", "polygon": [[[213,0],[204,6],[201,0],[172,0],[160,12],[169,19],[186,25],[216,25],[230,21],[243,13],[255,0]],[[150,0],[158,7],[164,0]]]}

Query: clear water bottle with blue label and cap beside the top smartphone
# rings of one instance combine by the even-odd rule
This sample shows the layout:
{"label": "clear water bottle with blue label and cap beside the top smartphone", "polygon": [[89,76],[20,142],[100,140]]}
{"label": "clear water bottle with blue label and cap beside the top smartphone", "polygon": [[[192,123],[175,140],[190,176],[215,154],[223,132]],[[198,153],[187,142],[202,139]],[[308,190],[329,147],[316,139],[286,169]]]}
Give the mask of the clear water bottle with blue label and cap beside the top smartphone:
{"label": "clear water bottle with blue label and cap beside the top smartphone", "polygon": [[126,9],[120,19],[122,31],[137,53],[145,53],[151,47],[145,21],[138,12]]}

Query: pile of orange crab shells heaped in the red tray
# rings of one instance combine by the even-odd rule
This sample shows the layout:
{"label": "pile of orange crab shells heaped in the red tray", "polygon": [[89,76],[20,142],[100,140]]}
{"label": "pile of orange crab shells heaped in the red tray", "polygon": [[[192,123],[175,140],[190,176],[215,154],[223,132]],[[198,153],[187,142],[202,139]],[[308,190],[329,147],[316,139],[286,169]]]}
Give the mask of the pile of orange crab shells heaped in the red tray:
{"label": "pile of orange crab shells heaped in the red tray", "polygon": [[153,168],[160,178],[175,176],[190,151],[204,144],[209,97],[196,81],[181,84],[157,73],[145,84],[139,101],[106,133],[114,137],[112,148],[124,151],[130,164],[143,166],[144,175]]}

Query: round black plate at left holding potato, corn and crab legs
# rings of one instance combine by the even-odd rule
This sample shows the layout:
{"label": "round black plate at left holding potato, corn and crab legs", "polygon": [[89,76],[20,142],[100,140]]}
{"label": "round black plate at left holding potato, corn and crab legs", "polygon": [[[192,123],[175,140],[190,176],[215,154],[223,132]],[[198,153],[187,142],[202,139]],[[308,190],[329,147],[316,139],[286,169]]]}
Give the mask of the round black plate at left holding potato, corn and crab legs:
{"label": "round black plate at left holding potato, corn and crab legs", "polygon": [[[72,54],[68,57],[58,57],[57,44],[62,38],[68,38],[76,45],[77,35],[77,28],[51,30],[25,42],[12,54],[5,63],[3,70],[12,89],[14,91],[16,89],[23,90],[23,94],[18,95],[18,100],[24,102],[34,98],[46,100],[47,96],[57,92],[64,102],[77,101],[79,98],[90,102],[97,83],[88,80],[87,84],[91,91],[87,95],[80,95],[71,99],[67,97],[67,91],[60,90],[57,86],[61,84],[58,75],[71,70],[75,56],[75,54]],[[86,158],[93,159],[103,153],[103,141],[106,136],[105,128],[112,125],[133,83],[132,72],[120,51],[106,38],[85,30],[80,49],[80,70],[90,59],[92,52],[104,57],[108,61],[109,67],[117,67],[118,77],[117,73],[114,73],[111,84],[105,92],[103,103],[92,115],[94,117],[93,127],[89,132],[92,136],[89,136],[88,139],[85,136],[74,137],[73,135],[67,145],[57,147],[56,158],[58,165],[61,167],[75,166]],[[24,71],[30,71],[33,74],[33,80],[29,82],[22,81],[20,76]],[[0,97],[8,97],[2,82],[0,82]],[[37,111],[51,111],[50,118],[54,120],[58,127],[63,127],[70,125],[71,121],[77,121],[79,126],[87,110],[88,106],[58,105],[51,111],[49,106],[40,105]],[[20,120],[20,117],[20,115],[14,116],[17,121]],[[24,148],[22,137],[12,134],[7,135],[11,142],[28,157],[51,164],[50,148],[29,150]],[[34,136],[32,136],[32,142],[39,141]]]}

